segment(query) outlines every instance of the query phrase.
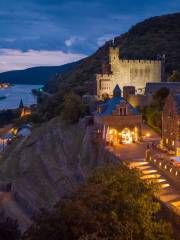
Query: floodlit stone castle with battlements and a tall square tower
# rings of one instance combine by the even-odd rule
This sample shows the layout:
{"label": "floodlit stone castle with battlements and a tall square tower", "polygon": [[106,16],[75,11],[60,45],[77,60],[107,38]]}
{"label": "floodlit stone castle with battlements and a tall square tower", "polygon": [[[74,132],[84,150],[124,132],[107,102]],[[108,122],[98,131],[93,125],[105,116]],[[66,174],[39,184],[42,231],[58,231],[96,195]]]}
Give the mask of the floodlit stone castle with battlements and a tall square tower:
{"label": "floodlit stone castle with battlements and a tall square tower", "polygon": [[122,60],[119,48],[109,48],[109,74],[96,74],[96,93],[112,97],[113,89],[118,84],[121,89],[134,86],[137,93],[144,93],[147,82],[161,82],[162,62],[160,60]]}

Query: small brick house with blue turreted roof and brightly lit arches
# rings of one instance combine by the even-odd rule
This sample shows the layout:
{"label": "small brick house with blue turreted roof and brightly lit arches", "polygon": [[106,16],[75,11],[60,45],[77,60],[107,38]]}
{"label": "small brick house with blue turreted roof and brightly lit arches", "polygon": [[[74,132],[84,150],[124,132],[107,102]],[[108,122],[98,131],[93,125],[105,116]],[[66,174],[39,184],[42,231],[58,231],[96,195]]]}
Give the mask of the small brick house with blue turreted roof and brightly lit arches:
{"label": "small brick house with blue turreted roof and brightly lit arches", "polygon": [[132,143],[141,139],[142,115],[121,97],[118,85],[111,99],[98,104],[94,121],[106,142]]}

